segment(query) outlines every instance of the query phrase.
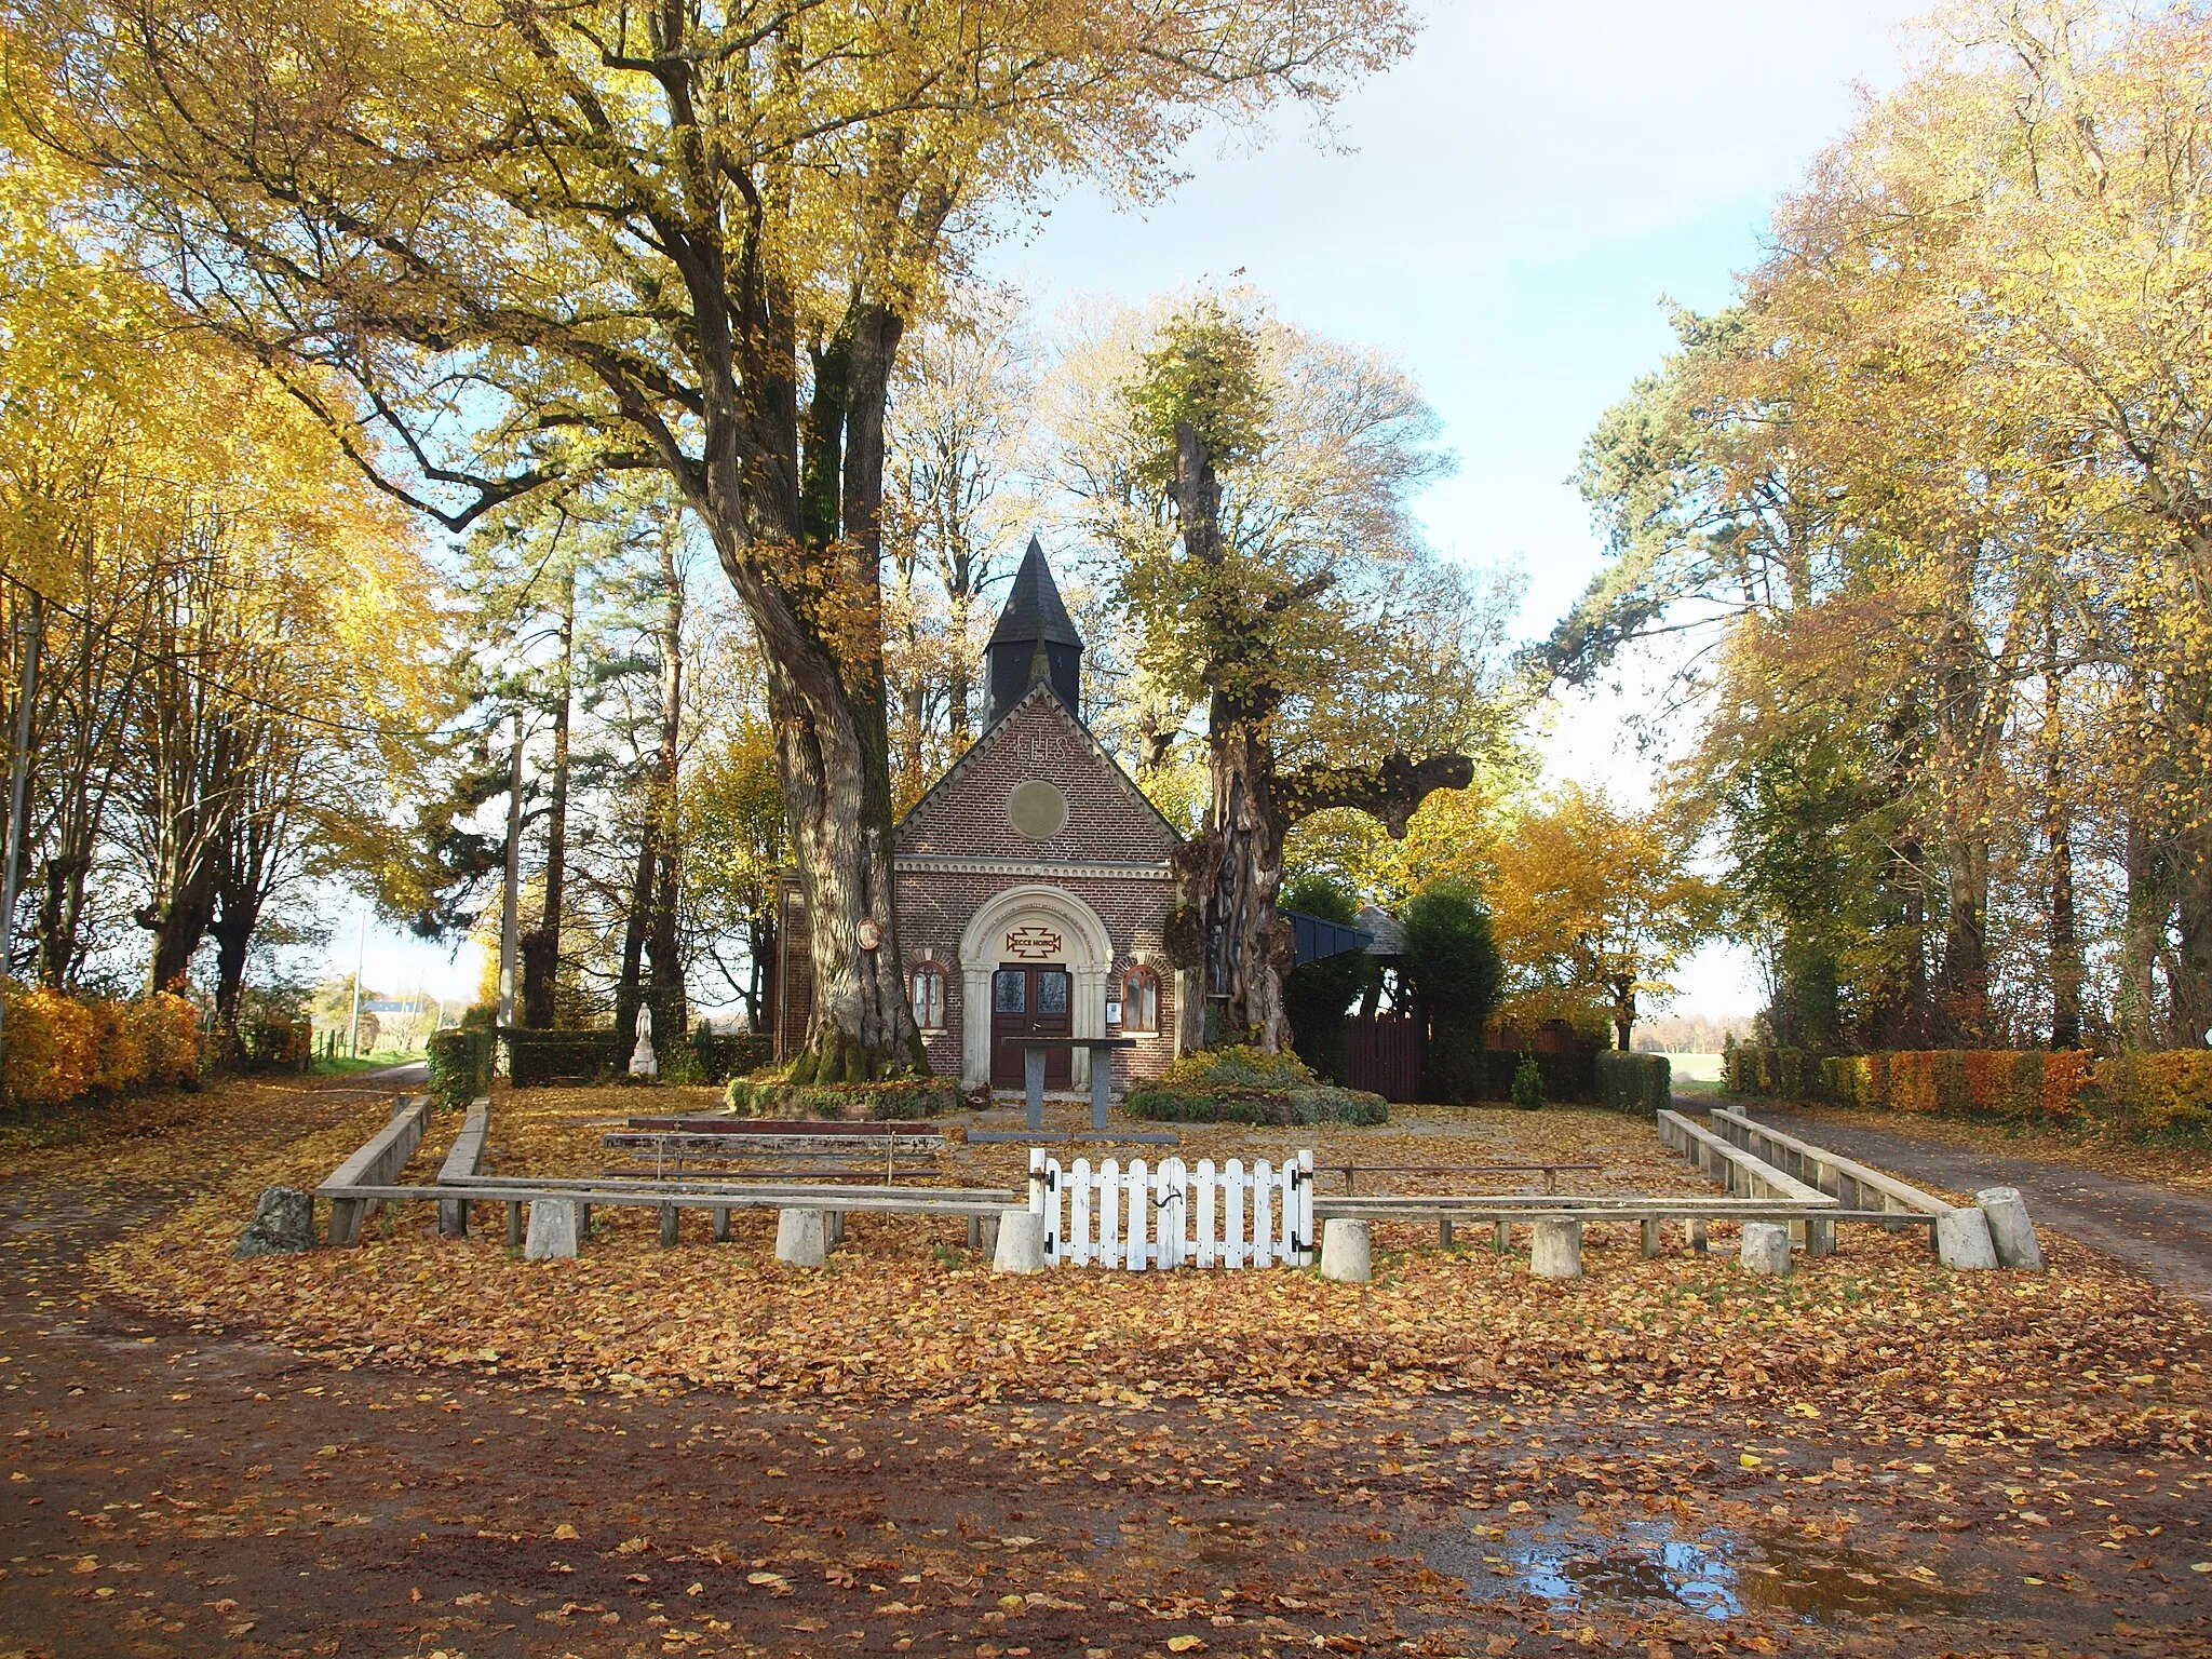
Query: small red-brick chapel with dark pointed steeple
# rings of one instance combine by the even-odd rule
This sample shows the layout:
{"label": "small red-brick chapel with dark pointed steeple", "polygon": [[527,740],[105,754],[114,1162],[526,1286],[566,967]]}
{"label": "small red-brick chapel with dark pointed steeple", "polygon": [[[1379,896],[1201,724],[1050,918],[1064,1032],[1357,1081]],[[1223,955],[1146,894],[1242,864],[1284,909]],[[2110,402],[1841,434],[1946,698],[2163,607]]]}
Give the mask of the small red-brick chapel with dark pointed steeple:
{"label": "small red-brick chapel with dark pointed steeple", "polygon": [[[1082,719],[1084,641],[1031,538],[984,648],[982,737],[894,832],[907,993],[929,1068],[1022,1086],[1018,1037],[1128,1035],[1117,1071],[1175,1057],[1177,975],[1161,931],[1179,836]],[[805,1044],[805,902],[783,883],[776,1057]],[[1088,1055],[1048,1051],[1046,1088],[1084,1088]]]}

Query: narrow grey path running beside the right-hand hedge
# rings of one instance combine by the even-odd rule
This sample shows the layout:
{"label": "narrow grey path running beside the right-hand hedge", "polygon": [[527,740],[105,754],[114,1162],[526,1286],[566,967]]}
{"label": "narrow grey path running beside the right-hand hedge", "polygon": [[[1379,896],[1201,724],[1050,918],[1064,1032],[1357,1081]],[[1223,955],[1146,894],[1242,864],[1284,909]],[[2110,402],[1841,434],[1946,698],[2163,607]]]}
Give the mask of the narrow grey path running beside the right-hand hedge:
{"label": "narrow grey path running beside the right-hand hedge", "polygon": [[[1688,1108],[1701,1110],[1697,1104]],[[2126,1261],[2146,1279],[2212,1307],[2212,1192],[2132,1181],[2124,1175],[1997,1148],[1969,1150],[1918,1137],[1909,1128],[1876,1128],[1827,1113],[1790,1113],[1765,1102],[1754,1106],[1752,1115],[1907,1181],[1951,1192],[2017,1186],[2039,1228],[2062,1228],[2081,1243]]]}

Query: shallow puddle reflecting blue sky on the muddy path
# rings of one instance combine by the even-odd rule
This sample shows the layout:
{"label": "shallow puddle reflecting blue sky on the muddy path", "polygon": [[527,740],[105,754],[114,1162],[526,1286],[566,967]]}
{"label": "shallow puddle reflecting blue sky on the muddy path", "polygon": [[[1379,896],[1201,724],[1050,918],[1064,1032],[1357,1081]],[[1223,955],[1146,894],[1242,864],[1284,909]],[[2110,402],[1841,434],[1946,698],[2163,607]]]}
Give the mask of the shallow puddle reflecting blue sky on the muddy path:
{"label": "shallow puddle reflecting blue sky on the muddy path", "polygon": [[1958,1610],[1966,1595],[1885,1568],[1847,1548],[1710,1531],[1681,1537],[1668,1522],[1628,1520],[1606,1533],[1548,1524],[1502,1540],[1453,1533],[1425,1551],[1431,1568],[1520,1588],[1557,1606],[1666,1601],[1705,1619],[1747,1608],[1818,1621],[1829,1613]]}

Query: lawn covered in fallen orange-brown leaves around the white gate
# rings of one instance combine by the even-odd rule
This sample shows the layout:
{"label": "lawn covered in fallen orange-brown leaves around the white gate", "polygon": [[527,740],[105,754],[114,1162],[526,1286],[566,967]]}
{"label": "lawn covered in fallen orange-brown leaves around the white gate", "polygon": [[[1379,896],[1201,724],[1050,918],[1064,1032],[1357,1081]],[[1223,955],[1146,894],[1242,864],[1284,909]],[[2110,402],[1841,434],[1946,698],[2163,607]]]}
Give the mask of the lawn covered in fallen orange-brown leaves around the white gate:
{"label": "lawn covered in fallen orange-brown leaves around the white gate", "polygon": [[[498,1168],[597,1170],[599,1133],[641,1102],[666,1110],[670,1095],[507,1095],[493,1113]],[[493,1206],[478,1208],[469,1241],[436,1237],[431,1208],[405,1206],[385,1210],[361,1250],[230,1259],[261,1186],[312,1186],[380,1115],[365,1104],[259,1146],[97,1270],[150,1305],[345,1365],[480,1367],[560,1389],[845,1407],[1453,1391],[1524,1411],[1666,1413],[1743,1400],[1805,1425],[1993,1444],[2212,1444],[2203,1321],[2057,1237],[2048,1274],[1951,1274],[1918,1230],[1845,1228],[1838,1256],[1801,1259],[1776,1281],[1734,1265],[1725,1228],[1714,1228],[1712,1256],[1688,1254],[1670,1228],[1668,1252],[1644,1261],[1630,1225],[1593,1225],[1586,1279],[1551,1283],[1531,1279],[1524,1259],[1493,1254],[1486,1230],[1462,1230],[1462,1248],[1447,1252],[1433,1230],[1407,1225],[1378,1228],[1378,1279],[1352,1287],[1290,1270],[998,1276],[960,1248],[962,1223],[949,1219],[854,1217],[830,1267],[790,1270],[774,1261],[772,1212],[739,1212],[721,1248],[708,1243],[706,1214],[686,1212],[684,1241],[666,1252],[653,1212],[599,1210],[582,1259],[531,1263],[504,1245]],[[440,1119],[411,1179],[436,1170],[451,1133],[453,1119]],[[1292,1146],[1363,1166],[1599,1161],[1606,1172],[1571,1186],[1701,1190],[1648,1124],[1601,1113],[1192,1128],[1179,1150],[1250,1159]],[[942,1179],[1018,1186],[1024,1161],[1020,1146],[960,1146]],[[1493,1190],[1515,1186],[1498,1177]]]}

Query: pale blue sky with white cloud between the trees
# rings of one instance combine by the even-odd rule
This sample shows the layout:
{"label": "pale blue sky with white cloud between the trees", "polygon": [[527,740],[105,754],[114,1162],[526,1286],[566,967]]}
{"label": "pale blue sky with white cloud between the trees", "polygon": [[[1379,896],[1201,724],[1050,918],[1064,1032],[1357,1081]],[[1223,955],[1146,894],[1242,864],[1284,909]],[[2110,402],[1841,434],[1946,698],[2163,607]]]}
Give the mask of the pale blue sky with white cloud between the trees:
{"label": "pale blue sky with white cloud between the trees", "polygon": [[[1164,201],[1064,195],[989,270],[1042,314],[1079,294],[1141,301],[1206,281],[1290,321],[1396,352],[1460,471],[1425,498],[1436,544],[1526,573],[1544,633],[1599,566],[1566,482],[1584,434],[1670,334],[1661,299],[1712,307],[1759,259],[1774,199],[1840,137],[1858,86],[1902,66],[1907,0],[1553,0],[1438,4],[1411,58],[1347,97],[1316,142],[1292,113],[1254,146],[1194,142]],[[1564,708],[1555,772],[1632,783],[1619,706]],[[332,971],[352,967],[352,927]],[[369,929],[365,980],[467,998],[473,951]],[[1759,1004],[1750,962],[1703,953],[1683,1011]]]}

